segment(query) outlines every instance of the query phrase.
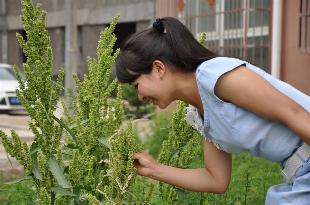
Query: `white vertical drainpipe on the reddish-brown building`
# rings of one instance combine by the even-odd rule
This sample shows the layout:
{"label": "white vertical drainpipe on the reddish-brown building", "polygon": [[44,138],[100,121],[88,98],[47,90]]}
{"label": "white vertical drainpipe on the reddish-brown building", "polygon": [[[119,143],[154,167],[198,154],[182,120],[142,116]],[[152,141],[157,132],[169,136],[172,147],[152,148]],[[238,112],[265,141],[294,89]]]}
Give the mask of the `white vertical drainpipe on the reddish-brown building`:
{"label": "white vertical drainpipe on the reddish-brown building", "polygon": [[281,39],[282,39],[282,0],[273,0],[271,37],[271,75],[280,79]]}

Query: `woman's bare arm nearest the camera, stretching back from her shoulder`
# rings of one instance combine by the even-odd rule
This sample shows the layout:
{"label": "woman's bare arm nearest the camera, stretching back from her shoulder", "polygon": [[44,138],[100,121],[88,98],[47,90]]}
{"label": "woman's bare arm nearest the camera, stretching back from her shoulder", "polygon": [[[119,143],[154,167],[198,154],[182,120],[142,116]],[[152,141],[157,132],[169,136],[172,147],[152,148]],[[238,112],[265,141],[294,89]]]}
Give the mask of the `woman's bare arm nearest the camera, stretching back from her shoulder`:
{"label": "woman's bare arm nearest the camera, stretching back from her shoulder", "polygon": [[239,66],[220,76],[214,93],[223,101],[286,124],[310,145],[310,113],[251,69]]}

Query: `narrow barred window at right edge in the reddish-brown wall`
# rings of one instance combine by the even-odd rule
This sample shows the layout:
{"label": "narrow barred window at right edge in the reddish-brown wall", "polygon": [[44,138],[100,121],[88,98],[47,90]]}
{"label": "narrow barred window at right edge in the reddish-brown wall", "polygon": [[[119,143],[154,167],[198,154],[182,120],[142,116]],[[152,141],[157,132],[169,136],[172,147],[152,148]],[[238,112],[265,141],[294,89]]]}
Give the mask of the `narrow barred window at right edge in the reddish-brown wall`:
{"label": "narrow barred window at right edge in the reddish-brown wall", "polygon": [[310,1],[300,0],[299,53],[310,53]]}

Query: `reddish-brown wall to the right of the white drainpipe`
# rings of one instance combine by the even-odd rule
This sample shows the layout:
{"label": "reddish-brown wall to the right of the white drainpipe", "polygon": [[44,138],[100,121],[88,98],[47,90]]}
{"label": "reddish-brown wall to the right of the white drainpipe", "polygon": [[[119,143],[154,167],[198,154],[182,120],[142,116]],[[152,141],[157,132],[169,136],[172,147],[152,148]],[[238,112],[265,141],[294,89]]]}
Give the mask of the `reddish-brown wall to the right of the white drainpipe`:
{"label": "reddish-brown wall to the right of the white drainpipe", "polygon": [[281,80],[310,95],[310,53],[298,51],[299,10],[300,1],[283,1]]}

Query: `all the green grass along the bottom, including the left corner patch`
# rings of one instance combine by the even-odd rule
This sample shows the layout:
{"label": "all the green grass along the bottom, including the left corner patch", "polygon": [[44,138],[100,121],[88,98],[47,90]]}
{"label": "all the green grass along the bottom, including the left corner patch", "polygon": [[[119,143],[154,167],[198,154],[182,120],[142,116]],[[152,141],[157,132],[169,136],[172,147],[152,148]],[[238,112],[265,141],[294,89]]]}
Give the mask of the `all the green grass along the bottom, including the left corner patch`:
{"label": "all the green grass along the bottom, including the left corner patch", "polygon": [[[256,158],[250,154],[233,155],[232,177],[225,194],[187,192],[179,199],[180,204],[265,204],[267,190],[270,186],[283,183],[279,172],[279,163]],[[36,199],[30,180],[16,184],[3,184],[23,177],[24,173],[2,172],[0,175],[0,204],[27,205]],[[157,181],[137,176],[135,195],[141,201],[146,197],[150,183],[155,184],[151,203],[165,204],[157,189]]]}

